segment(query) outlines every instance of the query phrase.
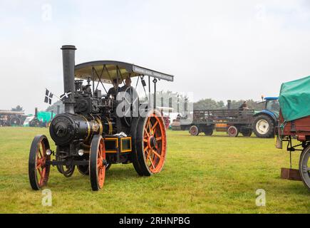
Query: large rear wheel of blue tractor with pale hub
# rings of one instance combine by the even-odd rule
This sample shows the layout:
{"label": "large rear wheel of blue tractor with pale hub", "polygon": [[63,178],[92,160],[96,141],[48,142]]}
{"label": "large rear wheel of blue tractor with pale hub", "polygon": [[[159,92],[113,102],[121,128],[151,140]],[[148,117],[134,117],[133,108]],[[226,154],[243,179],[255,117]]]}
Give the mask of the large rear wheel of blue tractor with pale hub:
{"label": "large rear wheel of blue tractor with pale hub", "polygon": [[258,138],[274,137],[274,120],[268,115],[258,115],[253,122],[254,134]]}

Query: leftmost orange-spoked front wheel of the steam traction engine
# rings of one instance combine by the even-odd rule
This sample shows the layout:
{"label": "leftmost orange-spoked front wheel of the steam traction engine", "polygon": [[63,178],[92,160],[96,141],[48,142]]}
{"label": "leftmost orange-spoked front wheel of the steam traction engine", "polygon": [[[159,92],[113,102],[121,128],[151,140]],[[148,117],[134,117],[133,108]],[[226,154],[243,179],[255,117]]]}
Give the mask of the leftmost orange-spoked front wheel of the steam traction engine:
{"label": "leftmost orange-spoked front wheel of the steam traction engine", "polygon": [[48,182],[51,165],[46,161],[51,160],[51,155],[46,155],[50,150],[48,139],[45,135],[37,135],[33,138],[29,152],[29,181],[33,190],[39,190]]}

